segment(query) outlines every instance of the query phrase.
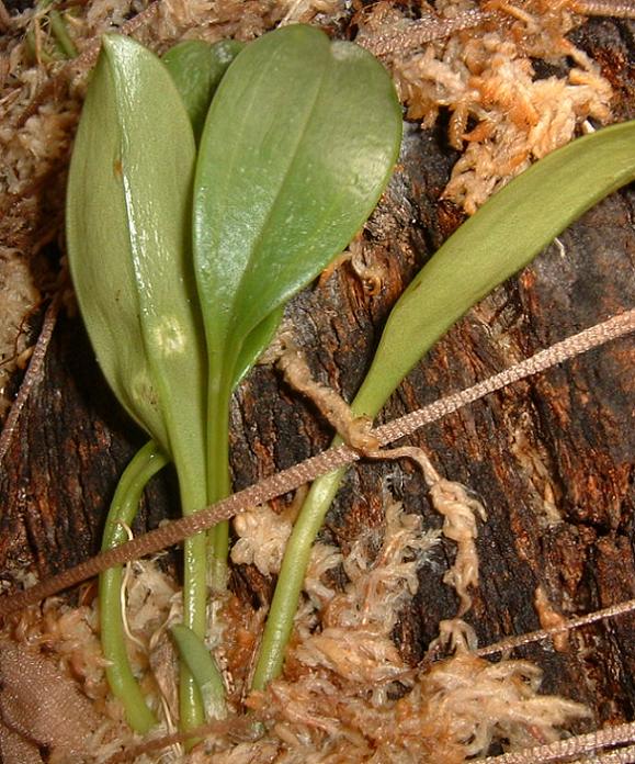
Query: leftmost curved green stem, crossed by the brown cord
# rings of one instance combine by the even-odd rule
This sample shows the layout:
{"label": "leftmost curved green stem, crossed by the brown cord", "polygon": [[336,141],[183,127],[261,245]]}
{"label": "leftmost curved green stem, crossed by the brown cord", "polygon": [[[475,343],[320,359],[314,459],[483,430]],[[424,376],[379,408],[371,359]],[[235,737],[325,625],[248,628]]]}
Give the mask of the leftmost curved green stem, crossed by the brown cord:
{"label": "leftmost curved green stem, crossed by the brown cord", "polygon": [[[167,463],[167,457],[152,440],[135,454],[113,496],[102,550],[127,541],[124,524],[129,526],[133,523],[148,481]],[[157,719],[146,705],[128,660],[121,600],[122,580],[121,565],[104,571],[99,577],[101,643],[110,664],[105,673],[112,693],[124,706],[129,726],[144,734],[157,723]]]}

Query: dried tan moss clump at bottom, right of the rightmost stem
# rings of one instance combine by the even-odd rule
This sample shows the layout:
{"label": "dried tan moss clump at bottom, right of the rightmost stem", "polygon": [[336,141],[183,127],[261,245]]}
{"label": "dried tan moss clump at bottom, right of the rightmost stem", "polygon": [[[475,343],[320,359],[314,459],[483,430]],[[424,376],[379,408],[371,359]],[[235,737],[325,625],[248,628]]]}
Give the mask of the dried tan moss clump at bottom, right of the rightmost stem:
{"label": "dried tan moss clump at bottom, right of the rightmost stem", "polygon": [[226,751],[216,743],[214,761],[462,762],[495,740],[513,748],[555,740],[557,726],[583,716],[578,704],[538,695],[534,665],[470,654],[457,623],[454,658],[421,671],[405,664],[392,632],[435,540],[388,501],[385,528],[358,539],[342,562],[344,591],[296,619],[284,675],[248,696],[264,737]]}

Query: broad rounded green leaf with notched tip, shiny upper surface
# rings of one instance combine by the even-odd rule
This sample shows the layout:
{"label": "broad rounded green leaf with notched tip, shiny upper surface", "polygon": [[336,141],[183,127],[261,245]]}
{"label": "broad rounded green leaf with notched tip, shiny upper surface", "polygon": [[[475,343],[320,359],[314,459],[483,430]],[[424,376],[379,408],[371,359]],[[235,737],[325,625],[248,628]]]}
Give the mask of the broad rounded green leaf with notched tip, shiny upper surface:
{"label": "broad rounded green leaf with notched tip, shiny upper surface", "polygon": [[237,56],[212,102],[194,183],[213,392],[239,375],[249,335],[363,225],[400,128],[390,79],[353,44],[286,26]]}

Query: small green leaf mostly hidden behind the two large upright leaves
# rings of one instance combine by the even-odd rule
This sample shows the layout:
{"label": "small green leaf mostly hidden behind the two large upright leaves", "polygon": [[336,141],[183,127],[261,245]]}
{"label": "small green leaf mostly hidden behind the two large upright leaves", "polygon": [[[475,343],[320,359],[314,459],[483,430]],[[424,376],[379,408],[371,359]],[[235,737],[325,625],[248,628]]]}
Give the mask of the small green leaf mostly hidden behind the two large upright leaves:
{"label": "small green leaf mostly hidden behind the two large upright leaves", "polygon": [[243,43],[237,40],[222,40],[214,45],[202,40],[186,40],[163,54],[162,61],[181,93],[196,142],[216,88],[242,47]]}

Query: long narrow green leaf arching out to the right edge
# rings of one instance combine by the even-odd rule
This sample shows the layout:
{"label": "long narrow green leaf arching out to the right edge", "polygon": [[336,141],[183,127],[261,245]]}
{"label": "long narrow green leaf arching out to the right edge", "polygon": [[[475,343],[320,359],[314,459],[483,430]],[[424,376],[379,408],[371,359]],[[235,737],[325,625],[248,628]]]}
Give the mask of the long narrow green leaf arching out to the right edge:
{"label": "long narrow green leaf arching out to the right edge", "polygon": [[547,155],[499,191],[439,249],[394,306],[354,412],[374,416],[467,310],[634,178],[635,122],[626,122]]}

